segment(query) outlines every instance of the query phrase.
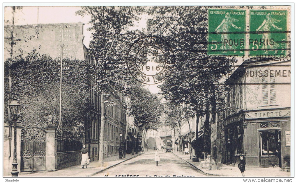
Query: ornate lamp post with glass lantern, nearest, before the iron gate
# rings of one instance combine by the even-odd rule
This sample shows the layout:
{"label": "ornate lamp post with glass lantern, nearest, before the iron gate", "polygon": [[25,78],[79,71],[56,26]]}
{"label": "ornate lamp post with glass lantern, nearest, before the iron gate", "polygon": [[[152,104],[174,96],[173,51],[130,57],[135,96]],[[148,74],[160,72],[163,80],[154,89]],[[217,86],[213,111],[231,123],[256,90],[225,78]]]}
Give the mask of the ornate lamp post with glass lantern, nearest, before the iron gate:
{"label": "ornate lamp post with glass lantern, nearest, before the iron gate", "polygon": [[18,162],[17,162],[17,115],[20,114],[20,102],[18,99],[13,99],[9,104],[10,113],[13,115],[14,120],[14,136],[13,136],[13,161],[11,176],[18,176]]}

